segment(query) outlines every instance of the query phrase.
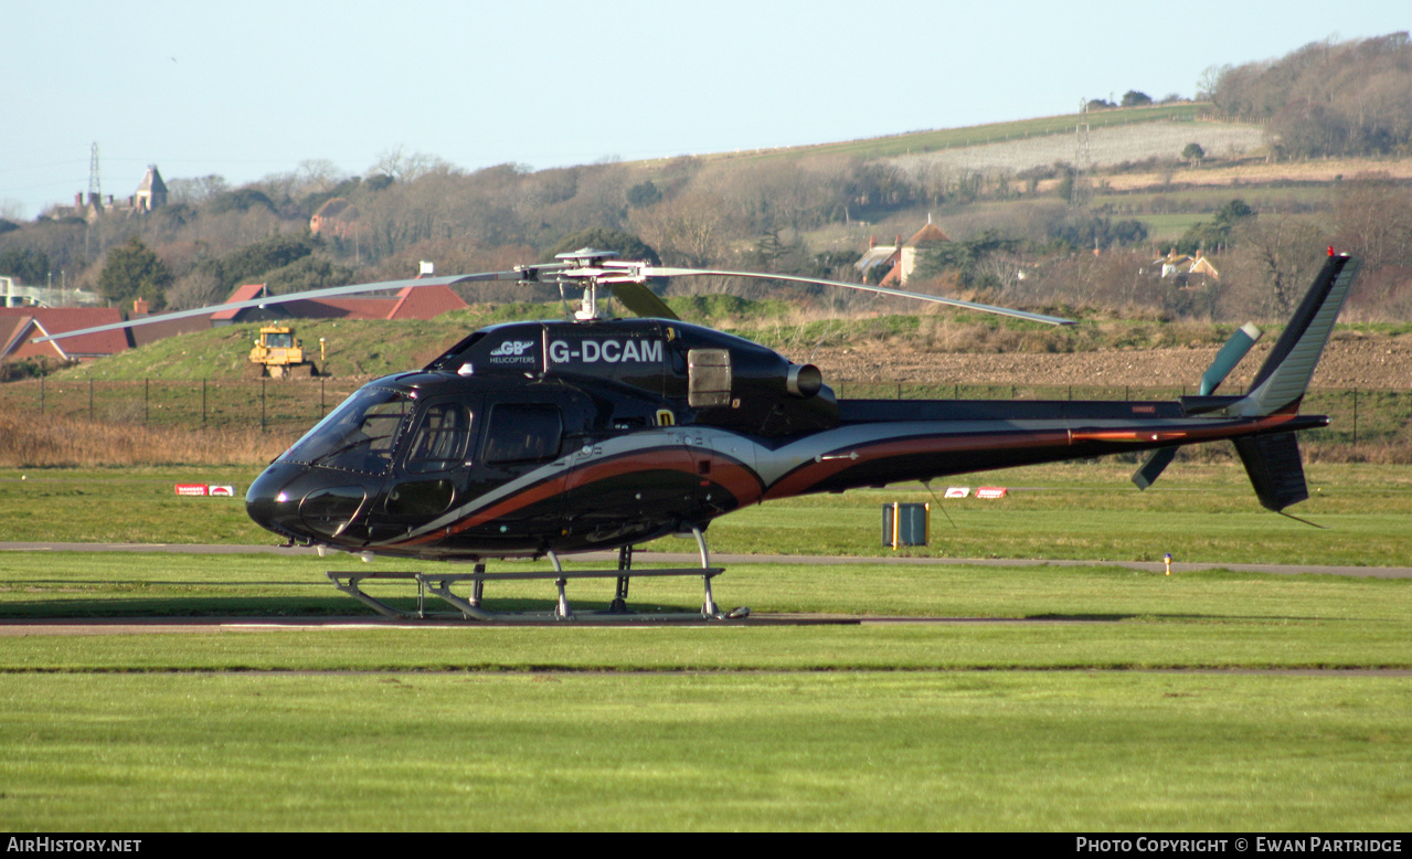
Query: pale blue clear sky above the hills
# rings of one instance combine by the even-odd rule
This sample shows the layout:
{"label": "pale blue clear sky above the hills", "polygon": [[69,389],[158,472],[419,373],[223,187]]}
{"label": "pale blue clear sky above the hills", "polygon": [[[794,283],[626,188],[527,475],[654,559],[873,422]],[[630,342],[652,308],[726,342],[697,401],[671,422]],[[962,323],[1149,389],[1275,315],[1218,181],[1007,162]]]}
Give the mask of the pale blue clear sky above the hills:
{"label": "pale blue clear sky above the hills", "polygon": [[384,154],[465,170],[880,137],[1192,96],[1209,66],[1412,28],[1406,0],[17,3],[0,213]]}

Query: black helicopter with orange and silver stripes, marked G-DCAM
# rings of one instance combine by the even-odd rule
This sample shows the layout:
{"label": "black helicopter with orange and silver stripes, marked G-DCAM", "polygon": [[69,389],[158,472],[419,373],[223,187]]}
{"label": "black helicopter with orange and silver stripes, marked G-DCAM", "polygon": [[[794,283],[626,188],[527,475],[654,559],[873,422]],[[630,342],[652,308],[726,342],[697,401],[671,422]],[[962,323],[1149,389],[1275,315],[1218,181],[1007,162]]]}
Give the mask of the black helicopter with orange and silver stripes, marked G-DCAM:
{"label": "black helicopter with orange and silver stripes, marked G-DCAM", "polygon": [[[487,581],[552,578],[552,617],[565,620],[575,617],[569,578],[617,578],[609,613],[627,616],[630,578],[700,575],[703,605],[692,616],[726,619],[748,610],[716,606],[710,582],[722,568],[710,565],[705,531],[720,516],[767,500],[1130,451],[1148,451],[1132,475],[1147,489],[1180,446],[1231,439],[1260,503],[1282,513],[1308,497],[1295,434],[1329,418],[1302,415],[1299,405],[1357,268],[1356,259],[1329,250],[1245,394],[1216,390],[1260,338],[1252,325],[1221,348],[1196,396],[1173,401],[840,400],[818,367],[683,322],[648,283],[703,274],[820,283],[1039,324],[1072,321],[867,284],[672,268],[593,249],[510,271],[220,307],[438,283],[579,290],[573,318],[491,325],[419,370],[367,383],[264,469],[246,493],[246,510],[287,545],[321,554],[474,564],[472,574],[328,574],[388,616],[407,612],[370,596],[364,579],[415,579],[418,615],[429,589],[467,619],[501,620],[507,616],[481,605]],[[604,312],[607,292],[638,318]],[[695,537],[699,567],[633,569],[634,545],[669,534]],[[618,551],[617,569],[569,572],[561,564],[561,555],[600,550]],[[513,557],[548,557],[554,571],[486,571],[487,558]],[[465,581],[469,598],[452,589]]]}

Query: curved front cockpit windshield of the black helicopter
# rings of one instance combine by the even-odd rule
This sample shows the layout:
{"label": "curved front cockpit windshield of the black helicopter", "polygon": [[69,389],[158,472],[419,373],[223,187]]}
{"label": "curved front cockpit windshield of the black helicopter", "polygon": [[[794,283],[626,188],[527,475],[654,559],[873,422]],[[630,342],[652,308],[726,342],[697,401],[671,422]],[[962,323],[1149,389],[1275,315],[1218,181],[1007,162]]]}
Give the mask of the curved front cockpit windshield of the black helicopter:
{"label": "curved front cockpit windshield of the black helicopter", "polygon": [[401,391],[363,389],[309,430],[280,462],[381,475],[393,465],[393,445],[414,405]]}

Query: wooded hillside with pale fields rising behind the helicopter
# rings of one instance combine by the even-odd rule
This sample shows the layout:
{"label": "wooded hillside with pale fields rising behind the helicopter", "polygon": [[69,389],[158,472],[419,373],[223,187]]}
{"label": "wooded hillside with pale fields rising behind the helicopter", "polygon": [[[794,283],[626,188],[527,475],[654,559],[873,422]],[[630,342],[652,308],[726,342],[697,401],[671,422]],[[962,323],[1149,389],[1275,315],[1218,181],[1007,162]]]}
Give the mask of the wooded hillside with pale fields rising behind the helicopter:
{"label": "wooded hillside with pale fields rising behind the helicopter", "polygon": [[[871,242],[887,244],[932,220],[962,250],[922,260],[923,291],[1124,316],[1281,319],[1289,309],[1284,284],[1299,281],[1313,257],[1336,244],[1365,257],[1368,285],[1350,307],[1367,319],[1405,319],[1412,316],[1412,143],[1398,134],[1401,117],[1412,116],[1412,103],[1404,103],[1412,89],[1387,86],[1402,81],[1396,69],[1371,89],[1346,72],[1387,71],[1388,57],[1408,51],[1406,40],[1324,48],[1271,65],[1298,66],[1295,89],[1282,89],[1264,68],[1223,72],[1217,96],[1230,99],[1216,102],[1220,114],[1213,103],[1179,102],[542,171],[503,164],[467,172],[418,157],[408,161],[415,170],[387,168],[397,175],[292,172],[236,189],[219,177],[172,179],[181,194],[145,216],[96,229],[52,219],[0,233],[0,266],[59,271],[66,285],[93,288],[110,264],[120,268],[113,251],[137,254],[137,242],[160,257],[150,283],[169,281],[164,297],[181,308],[219,301],[236,283],[294,291],[398,280],[422,260],[442,273],[504,270],[594,230],[666,266],[849,280]],[[1316,86],[1336,71],[1343,83]],[[1241,81],[1254,83],[1241,89]],[[1237,90],[1245,95],[1236,99]],[[1377,133],[1337,160],[1322,150],[1319,158],[1289,160],[1315,151],[1282,146],[1271,134],[1274,117],[1286,129],[1303,122],[1300,105],[1309,113],[1317,99],[1344,99],[1339,93],[1367,96],[1367,113],[1381,117]],[[1336,129],[1324,120],[1348,109],[1313,110],[1319,116],[1310,113],[1306,124]],[[340,202],[325,211],[332,201]],[[318,211],[326,218],[312,235]],[[1219,283],[1148,288],[1144,270],[1172,247],[1216,260]],[[126,287],[113,287],[114,297],[136,294],[137,284]],[[772,297],[770,287],[734,283],[669,290]],[[508,285],[463,295],[477,304],[525,297]]]}

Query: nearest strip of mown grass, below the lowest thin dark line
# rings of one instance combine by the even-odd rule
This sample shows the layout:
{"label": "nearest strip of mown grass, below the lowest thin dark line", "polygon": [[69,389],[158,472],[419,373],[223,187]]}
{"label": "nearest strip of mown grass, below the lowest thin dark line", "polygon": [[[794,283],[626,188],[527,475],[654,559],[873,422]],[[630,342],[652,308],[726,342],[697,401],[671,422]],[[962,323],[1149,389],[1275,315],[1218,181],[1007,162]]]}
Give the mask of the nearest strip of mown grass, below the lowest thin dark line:
{"label": "nearest strip of mown grass, below the lowest thin dark line", "polygon": [[8,677],[0,827],[1401,831],[1412,688],[1151,674]]}

